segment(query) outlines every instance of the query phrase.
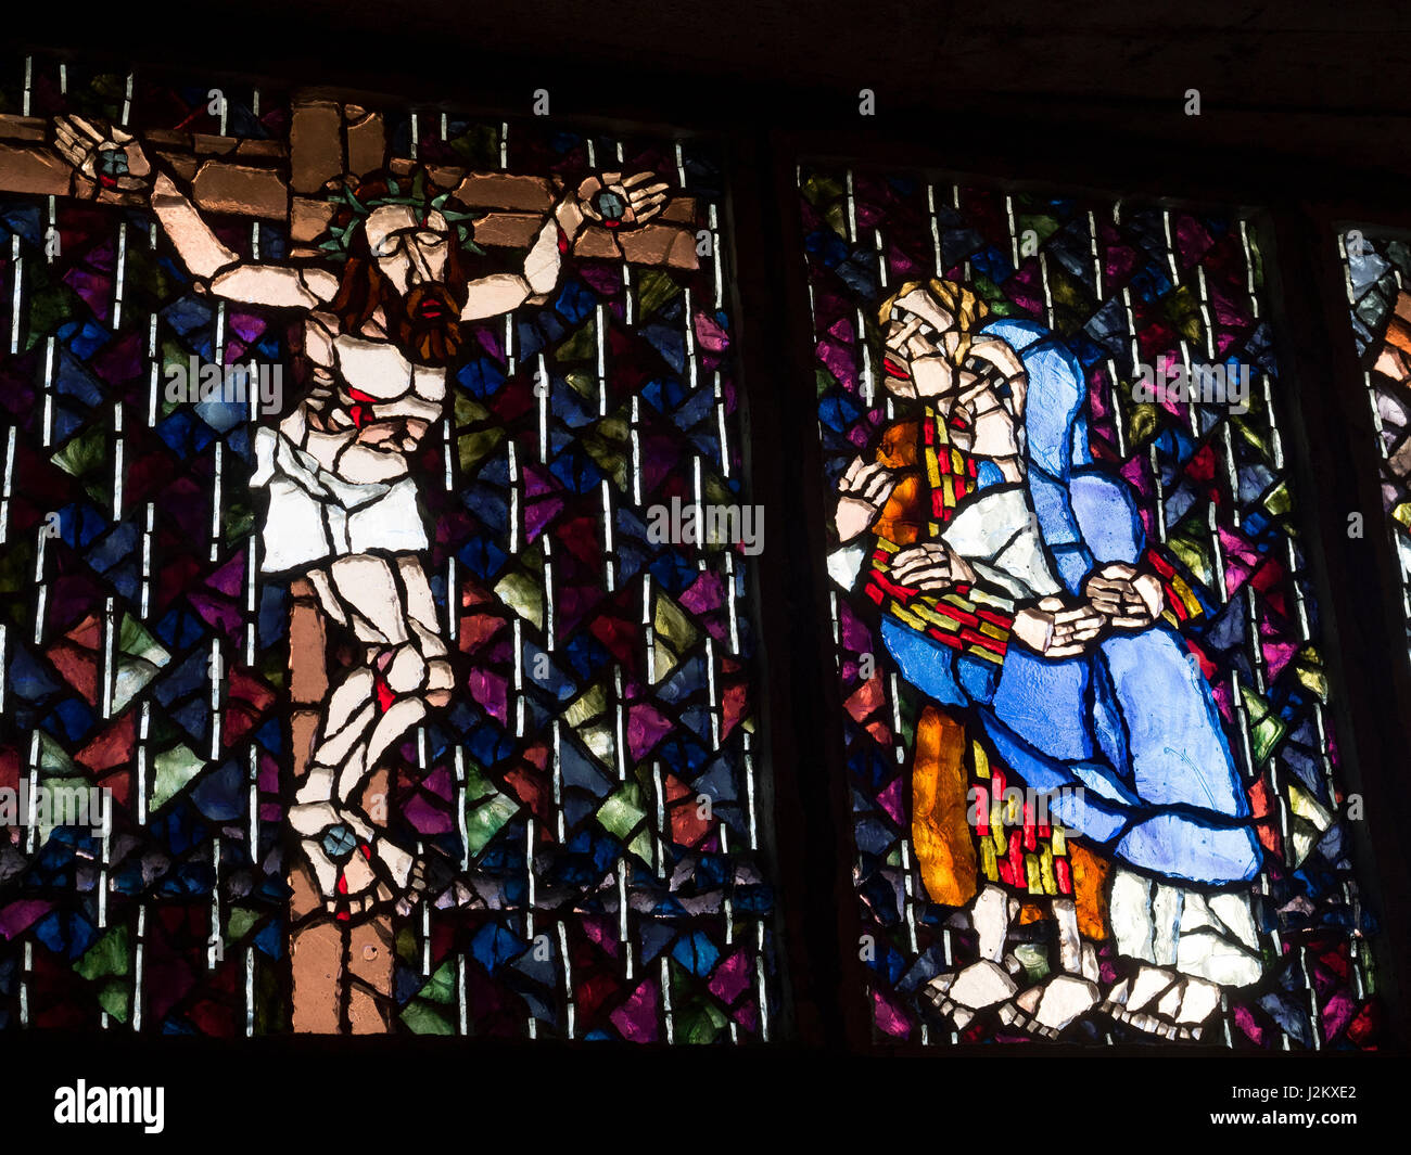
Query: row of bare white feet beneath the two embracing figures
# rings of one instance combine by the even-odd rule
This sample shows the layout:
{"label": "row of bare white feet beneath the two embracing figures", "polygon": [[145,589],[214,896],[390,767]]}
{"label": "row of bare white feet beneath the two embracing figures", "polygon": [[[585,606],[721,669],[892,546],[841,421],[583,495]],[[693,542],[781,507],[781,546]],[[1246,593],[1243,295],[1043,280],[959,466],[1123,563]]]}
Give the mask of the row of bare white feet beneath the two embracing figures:
{"label": "row of bare white feet beneath the two embracing figures", "polygon": [[[1017,969],[1013,960],[1010,970]],[[981,959],[964,970],[938,974],[921,990],[921,1004],[950,1018],[957,1029],[965,1029],[982,1011],[998,1008],[1006,1027],[1055,1039],[1098,1010],[1146,1034],[1194,1042],[1221,1001],[1215,983],[1158,966],[1141,966],[1134,980],[1122,979],[1106,998],[1094,980],[1062,973],[1020,991],[1010,970]]]}

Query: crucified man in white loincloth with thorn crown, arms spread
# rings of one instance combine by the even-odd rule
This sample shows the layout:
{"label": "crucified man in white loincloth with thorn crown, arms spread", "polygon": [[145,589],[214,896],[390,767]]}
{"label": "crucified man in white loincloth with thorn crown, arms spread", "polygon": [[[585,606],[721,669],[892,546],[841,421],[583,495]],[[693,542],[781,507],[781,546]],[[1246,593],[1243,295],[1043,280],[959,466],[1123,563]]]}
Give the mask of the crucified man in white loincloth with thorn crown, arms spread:
{"label": "crucified man in white loincloth with thorn crown, arms spread", "polygon": [[150,197],[199,291],[305,314],[312,386],[255,434],[251,485],[268,494],[261,571],[303,575],[363,661],[323,702],[289,822],[329,912],[347,919],[388,903],[405,912],[449,881],[437,877],[446,866],[395,845],[360,800],[387,750],[454,690],[422,563],[429,542],[411,454],[446,408],[461,323],[542,299],[586,223],[641,224],[662,210],[667,186],[650,172],[590,176],[555,204],[519,271],[470,279],[461,251],[481,250],[450,192],[420,169],[370,173],[332,197],[323,250],[343,258],[334,271],[241,259],[120,128],[71,116],[55,121],[55,135],[96,183]]}

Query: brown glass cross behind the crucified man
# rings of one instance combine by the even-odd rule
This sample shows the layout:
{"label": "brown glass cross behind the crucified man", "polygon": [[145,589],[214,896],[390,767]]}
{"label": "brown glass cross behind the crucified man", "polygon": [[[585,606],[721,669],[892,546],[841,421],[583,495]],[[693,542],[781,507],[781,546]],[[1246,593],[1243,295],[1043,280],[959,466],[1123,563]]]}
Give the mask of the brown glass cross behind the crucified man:
{"label": "brown glass cross behind the crucified man", "polygon": [[[76,172],[49,144],[51,126],[41,117],[0,116],[0,190],[30,196],[62,196],[99,204],[148,207],[144,192],[103,188]],[[416,162],[388,158],[384,116],[358,104],[316,94],[292,103],[288,144],[240,140],[203,133],[151,130],[140,140],[154,161],[189,189],[202,213],[284,224],[291,261],[322,262],[317,248],[336,204],[329,193],[347,176],[388,169],[409,175]],[[474,240],[488,250],[531,245],[560,196],[560,188],[539,176],[471,172],[454,165],[428,165],[436,185],[473,213]],[[586,223],[573,255],[631,265],[694,269],[696,202],[677,196],[643,226],[612,230]],[[319,711],[327,697],[327,622],[308,581],[291,582],[289,697],[292,771],[298,781],[308,763]],[[368,791],[391,791],[389,767],[378,767]],[[385,825],[385,822],[377,822]],[[385,911],[340,922],[327,914],[309,869],[289,867],[291,1014],[296,1032],[380,1034],[394,1028],[394,925]]]}

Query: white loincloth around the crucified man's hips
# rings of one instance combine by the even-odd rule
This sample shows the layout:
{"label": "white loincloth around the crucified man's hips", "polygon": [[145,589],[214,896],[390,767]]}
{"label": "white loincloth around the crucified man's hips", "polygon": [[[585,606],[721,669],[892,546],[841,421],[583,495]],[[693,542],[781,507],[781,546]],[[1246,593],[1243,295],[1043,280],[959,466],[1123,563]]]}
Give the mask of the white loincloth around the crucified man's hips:
{"label": "white loincloth around the crucified man's hips", "polygon": [[251,488],[270,492],[260,570],[305,570],[350,554],[429,547],[409,477],[356,484],[329,472],[279,429],[255,430]]}

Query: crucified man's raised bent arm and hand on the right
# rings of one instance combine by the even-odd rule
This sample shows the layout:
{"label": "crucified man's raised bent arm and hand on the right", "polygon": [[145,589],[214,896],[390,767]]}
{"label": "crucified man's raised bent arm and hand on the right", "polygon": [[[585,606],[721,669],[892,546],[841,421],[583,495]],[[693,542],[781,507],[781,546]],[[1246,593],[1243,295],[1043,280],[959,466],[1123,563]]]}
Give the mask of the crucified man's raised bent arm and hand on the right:
{"label": "crucified man's raised bent arm and hand on the right", "polygon": [[[535,296],[553,292],[559,283],[563,252],[573,245],[583,226],[600,221],[614,228],[631,228],[655,217],[666,203],[666,183],[653,172],[639,172],[625,181],[621,173],[590,176],[576,193],[560,200],[525,254],[523,272],[497,272],[471,281],[461,320],[498,317]],[[607,210],[608,216],[604,216]]]}

